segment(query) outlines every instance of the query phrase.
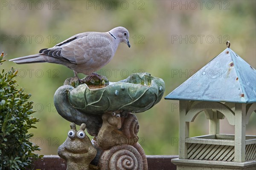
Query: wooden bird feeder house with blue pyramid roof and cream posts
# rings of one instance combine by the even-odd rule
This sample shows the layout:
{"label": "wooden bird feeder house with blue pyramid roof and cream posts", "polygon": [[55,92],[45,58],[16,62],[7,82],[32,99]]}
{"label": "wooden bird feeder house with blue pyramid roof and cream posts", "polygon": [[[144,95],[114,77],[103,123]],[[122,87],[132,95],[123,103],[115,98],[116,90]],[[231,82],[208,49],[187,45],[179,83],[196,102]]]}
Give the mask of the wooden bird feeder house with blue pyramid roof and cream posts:
{"label": "wooden bird feeder house with blue pyramid roof and cream posts", "polygon": [[[256,169],[256,136],[246,135],[256,112],[256,70],[225,49],[165,97],[180,101],[177,170]],[[221,74],[222,73],[222,74]],[[189,122],[204,112],[209,135],[189,137]],[[219,120],[227,118],[235,134],[220,134]]]}

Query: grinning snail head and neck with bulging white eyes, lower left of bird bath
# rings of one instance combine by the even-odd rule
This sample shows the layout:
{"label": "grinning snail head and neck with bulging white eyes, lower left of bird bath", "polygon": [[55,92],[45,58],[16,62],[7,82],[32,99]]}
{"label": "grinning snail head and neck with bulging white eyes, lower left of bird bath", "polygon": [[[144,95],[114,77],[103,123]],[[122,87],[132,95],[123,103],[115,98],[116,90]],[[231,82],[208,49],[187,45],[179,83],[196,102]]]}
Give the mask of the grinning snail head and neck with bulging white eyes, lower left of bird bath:
{"label": "grinning snail head and neck with bulging white eyes, lower left of bird bath", "polygon": [[58,147],[58,155],[67,161],[67,170],[89,170],[89,164],[96,156],[96,149],[85,134],[83,123],[76,131],[76,124],[70,124],[66,141]]}

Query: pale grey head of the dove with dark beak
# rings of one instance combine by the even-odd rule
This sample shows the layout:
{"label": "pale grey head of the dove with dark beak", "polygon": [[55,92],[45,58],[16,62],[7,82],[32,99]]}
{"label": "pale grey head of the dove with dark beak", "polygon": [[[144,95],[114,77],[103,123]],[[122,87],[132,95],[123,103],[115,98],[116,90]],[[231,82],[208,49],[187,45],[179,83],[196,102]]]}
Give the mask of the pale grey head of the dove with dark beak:
{"label": "pale grey head of the dove with dark beak", "polygon": [[111,33],[111,35],[114,36],[115,39],[118,40],[118,42],[126,43],[129,48],[131,47],[129,42],[129,32],[126,28],[119,26],[114,29],[111,29],[109,32]]}

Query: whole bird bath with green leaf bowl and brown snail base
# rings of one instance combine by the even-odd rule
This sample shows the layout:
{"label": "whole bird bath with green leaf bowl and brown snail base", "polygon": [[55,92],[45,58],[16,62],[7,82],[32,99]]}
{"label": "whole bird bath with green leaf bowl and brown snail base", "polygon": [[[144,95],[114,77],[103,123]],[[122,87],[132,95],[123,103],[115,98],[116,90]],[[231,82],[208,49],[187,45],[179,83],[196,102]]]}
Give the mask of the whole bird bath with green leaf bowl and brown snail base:
{"label": "whole bird bath with green leaf bowl and brown snail base", "polygon": [[[147,170],[134,113],[144,112],[161,100],[163,80],[136,73],[107,86],[77,84],[78,80],[68,79],[54,95],[58,113],[73,122],[67,140],[58,148],[58,155],[67,161],[67,169]],[[80,130],[76,130],[75,124],[81,125]],[[94,136],[92,141],[85,129]]]}

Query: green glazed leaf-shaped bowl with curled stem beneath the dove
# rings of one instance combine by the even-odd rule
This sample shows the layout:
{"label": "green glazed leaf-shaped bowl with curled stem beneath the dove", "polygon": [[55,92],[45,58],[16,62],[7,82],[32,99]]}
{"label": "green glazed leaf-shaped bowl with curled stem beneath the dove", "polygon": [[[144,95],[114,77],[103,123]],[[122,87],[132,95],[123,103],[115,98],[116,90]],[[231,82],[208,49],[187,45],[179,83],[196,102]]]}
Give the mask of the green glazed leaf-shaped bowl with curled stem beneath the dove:
{"label": "green glazed leaf-shaped bowl with curled stem beneath the dove", "polygon": [[[116,110],[144,112],[161,100],[164,90],[162,79],[148,73],[135,73],[102,88],[90,88],[87,84],[76,88],[61,86],[55,92],[54,104],[58,113],[68,121],[85,123],[88,128],[94,124],[93,128],[97,128],[96,124],[101,126],[102,113]],[[91,134],[97,133],[88,128]]]}

